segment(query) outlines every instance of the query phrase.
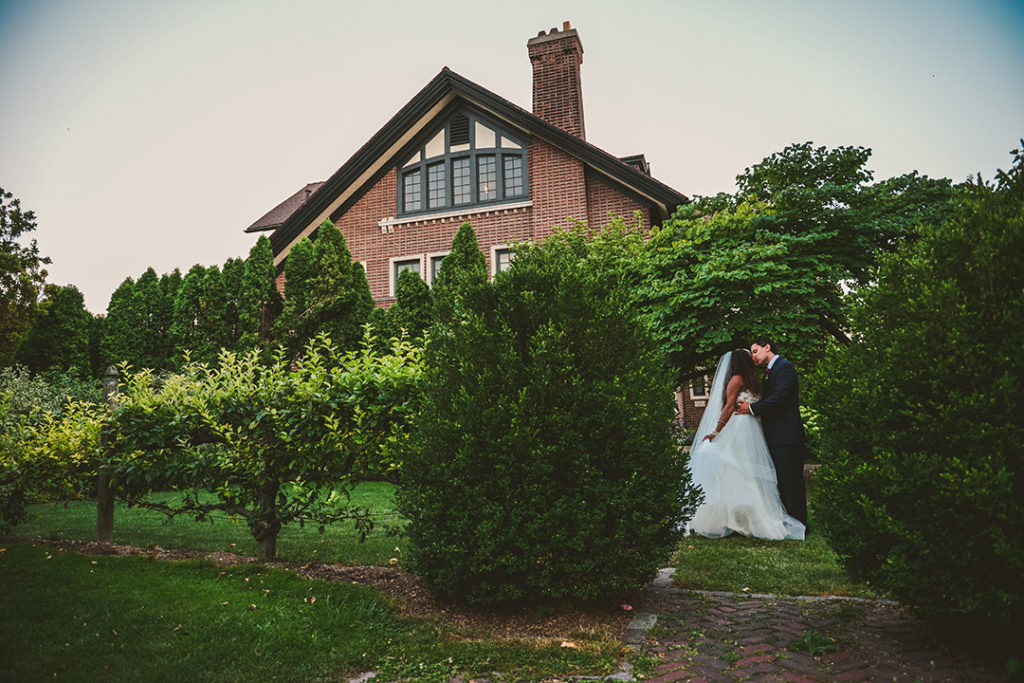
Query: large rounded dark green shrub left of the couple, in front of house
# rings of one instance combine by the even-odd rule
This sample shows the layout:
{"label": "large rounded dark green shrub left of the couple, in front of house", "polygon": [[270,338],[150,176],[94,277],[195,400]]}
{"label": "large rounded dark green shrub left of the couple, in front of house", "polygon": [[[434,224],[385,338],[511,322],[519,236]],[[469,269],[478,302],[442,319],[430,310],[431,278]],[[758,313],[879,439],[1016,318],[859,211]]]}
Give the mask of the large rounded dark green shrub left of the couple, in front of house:
{"label": "large rounded dark green shrub left of the couple, in front of house", "polygon": [[431,332],[409,564],[470,603],[624,596],[693,512],[672,383],[581,232],[521,247]]}

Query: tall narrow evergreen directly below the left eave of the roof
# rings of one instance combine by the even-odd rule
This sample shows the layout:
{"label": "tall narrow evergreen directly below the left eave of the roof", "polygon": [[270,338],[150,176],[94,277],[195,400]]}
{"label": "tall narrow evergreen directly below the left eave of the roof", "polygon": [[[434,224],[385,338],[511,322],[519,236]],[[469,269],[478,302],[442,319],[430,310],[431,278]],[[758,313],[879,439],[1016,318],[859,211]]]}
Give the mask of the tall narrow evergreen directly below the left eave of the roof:
{"label": "tall narrow evergreen directly below the left eave of the roof", "polygon": [[239,325],[240,347],[264,346],[273,339],[273,324],[281,315],[281,292],[273,265],[273,250],[266,236],[260,236],[246,259],[242,275]]}

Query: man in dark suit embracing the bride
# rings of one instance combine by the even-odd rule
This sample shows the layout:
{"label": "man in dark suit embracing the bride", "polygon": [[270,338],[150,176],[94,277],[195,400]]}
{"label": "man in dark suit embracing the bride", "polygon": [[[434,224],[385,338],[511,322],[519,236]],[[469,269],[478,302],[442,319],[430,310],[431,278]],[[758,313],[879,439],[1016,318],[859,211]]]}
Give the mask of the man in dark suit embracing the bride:
{"label": "man in dark suit embracing the bride", "polygon": [[775,462],[778,495],[792,516],[807,525],[807,490],[804,485],[804,423],[800,419],[797,369],[775,352],[768,337],[751,344],[754,362],[765,366],[764,396],[754,403],[739,401],[736,413],[761,418],[768,451]]}

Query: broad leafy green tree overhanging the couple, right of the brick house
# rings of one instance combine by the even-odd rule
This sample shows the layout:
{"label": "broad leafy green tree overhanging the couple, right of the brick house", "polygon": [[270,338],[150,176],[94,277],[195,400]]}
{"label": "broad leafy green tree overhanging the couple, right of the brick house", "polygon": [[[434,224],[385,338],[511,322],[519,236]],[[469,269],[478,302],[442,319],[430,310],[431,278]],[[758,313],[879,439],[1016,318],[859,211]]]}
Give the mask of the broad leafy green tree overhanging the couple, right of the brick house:
{"label": "broad leafy green tree overhanging the couple, right of the brick house", "polygon": [[793,144],[697,198],[653,230],[640,305],[680,376],[770,335],[810,364],[848,341],[847,287],[923,220],[949,215],[954,187],[911,173],[870,184],[864,147]]}

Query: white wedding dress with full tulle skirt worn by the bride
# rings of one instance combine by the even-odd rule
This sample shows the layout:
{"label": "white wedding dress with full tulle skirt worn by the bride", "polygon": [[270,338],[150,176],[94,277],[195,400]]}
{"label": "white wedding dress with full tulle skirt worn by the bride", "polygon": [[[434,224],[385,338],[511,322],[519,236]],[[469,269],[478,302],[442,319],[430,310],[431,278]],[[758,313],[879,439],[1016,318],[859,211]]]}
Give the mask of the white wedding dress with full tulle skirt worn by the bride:
{"label": "white wedding dress with full tulle skirt worn by the bride", "polygon": [[[707,412],[717,415],[711,398]],[[756,396],[744,389],[738,400],[753,402]],[[702,439],[709,431],[701,434],[698,429],[696,438]],[[786,513],[778,497],[775,465],[756,417],[733,415],[714,440],[694,439],[689,468],[705,500],[687,522],[687,533],[711,539],[732,532],[758,539],[804,539],[804,525]]]}

